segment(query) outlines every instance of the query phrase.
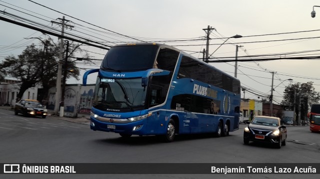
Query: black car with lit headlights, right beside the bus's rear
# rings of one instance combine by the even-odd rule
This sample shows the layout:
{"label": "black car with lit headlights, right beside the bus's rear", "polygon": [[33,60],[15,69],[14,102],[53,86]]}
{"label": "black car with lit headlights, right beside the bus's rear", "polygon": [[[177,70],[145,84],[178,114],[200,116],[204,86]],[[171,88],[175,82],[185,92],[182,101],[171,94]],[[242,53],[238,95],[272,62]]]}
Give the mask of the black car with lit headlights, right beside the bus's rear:
{"label": "black car with lit headlights, right beside the bus's rear", "polygon": [[281,119],[269,116],[255,116],[251,123],[244,128],[243,143],[249,141],[269,143],[277,148],[285,146],[286,126]]}

